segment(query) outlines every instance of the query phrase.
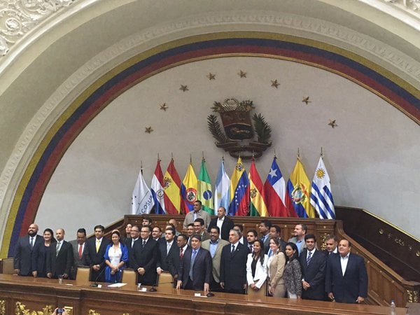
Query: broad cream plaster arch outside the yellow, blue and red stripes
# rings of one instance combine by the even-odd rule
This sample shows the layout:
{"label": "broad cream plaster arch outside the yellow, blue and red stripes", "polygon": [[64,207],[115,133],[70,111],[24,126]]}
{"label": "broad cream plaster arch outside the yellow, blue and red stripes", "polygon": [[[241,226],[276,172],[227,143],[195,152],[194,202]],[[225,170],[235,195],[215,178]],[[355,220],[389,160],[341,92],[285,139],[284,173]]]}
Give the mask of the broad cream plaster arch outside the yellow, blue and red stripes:
{"label": "broad cream plaster arch outside the yellow, blue and red stripes", "polygon": [[345,50],[414,95],[400,110],[419,123],[415,15],[402,22],[386,1],[349,2],[86,0],[45,20],[0,59],[1,217],[34,150],[81,91],[131,57],[190,36],[257,31]]}

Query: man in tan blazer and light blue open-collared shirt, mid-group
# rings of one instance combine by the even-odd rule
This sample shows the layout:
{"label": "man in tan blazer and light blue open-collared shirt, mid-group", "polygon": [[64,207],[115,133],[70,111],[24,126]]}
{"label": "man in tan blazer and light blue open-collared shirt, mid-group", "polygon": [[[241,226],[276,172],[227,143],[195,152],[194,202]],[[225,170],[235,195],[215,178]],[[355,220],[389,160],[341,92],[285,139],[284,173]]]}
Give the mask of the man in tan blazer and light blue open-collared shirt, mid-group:
{"label": "man in tan blazer and light blue open-collared shirt, mid-group", "polygon": [[212,291],[221,291],[220,274],[222,248],[229,244],[228,241],[219,238],[220,234],[221,230],[218,226],[214,225],[210,229],[210,239],[202,242],[202,248],[207,249],[207,251],[210,252],[213,262],[213,272],[210,279],[210,290]]}

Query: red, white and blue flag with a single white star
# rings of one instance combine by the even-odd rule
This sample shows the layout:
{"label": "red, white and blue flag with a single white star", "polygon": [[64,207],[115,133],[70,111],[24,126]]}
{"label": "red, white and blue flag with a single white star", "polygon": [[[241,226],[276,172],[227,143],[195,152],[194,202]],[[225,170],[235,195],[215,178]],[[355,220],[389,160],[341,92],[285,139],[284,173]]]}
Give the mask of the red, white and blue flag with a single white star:
{"label": "red, white and blue flag with a single white star", "polygon": [[[286,182],[281,174],[276,157],[269,169],[267,179],[264,183],[265,202],[270,216],[289,216],[286,208]],[[295,210],[293,209],[293,212]]]}

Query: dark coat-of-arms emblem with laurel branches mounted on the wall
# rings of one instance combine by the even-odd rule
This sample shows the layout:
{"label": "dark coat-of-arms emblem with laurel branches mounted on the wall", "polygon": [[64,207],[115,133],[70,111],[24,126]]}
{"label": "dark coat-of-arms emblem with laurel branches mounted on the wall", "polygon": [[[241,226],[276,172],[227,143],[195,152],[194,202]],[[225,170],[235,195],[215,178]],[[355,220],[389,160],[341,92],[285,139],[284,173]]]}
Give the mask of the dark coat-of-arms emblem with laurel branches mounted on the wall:
{"label": "dark coat-of-arms emblem with laurel branches mounted on the wall", "polygon": [[[207,117],[209,131],[217,141],[216,146],[229,151],[230,155],[251,158],[244,153],[252,152],[252,156],[255,153],[255,157],[260,157],[262,151],[271,146],[271,127],[260,113],[251,116],[250,112],[255,109],[251,100],[225,99],[223,103],[214,102],[211,109],[220,114],[223,127],[216,115],[211,114]],[[254,134],[257,141],[253,140]]]}

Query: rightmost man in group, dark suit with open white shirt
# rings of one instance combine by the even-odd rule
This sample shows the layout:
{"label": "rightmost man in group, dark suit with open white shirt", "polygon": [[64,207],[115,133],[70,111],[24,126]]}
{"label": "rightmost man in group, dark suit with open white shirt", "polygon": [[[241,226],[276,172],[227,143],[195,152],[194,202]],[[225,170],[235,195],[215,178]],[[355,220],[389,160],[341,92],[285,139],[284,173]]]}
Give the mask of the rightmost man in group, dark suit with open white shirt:
{"label": "rightmost man in group, dark suit with open white shirt", "polygon": [[338,255],[329,255],[325,291],[336,302],[362,303],[367,297],[365,261],[350,251],[350,242],[342,239],[338,243]]}

